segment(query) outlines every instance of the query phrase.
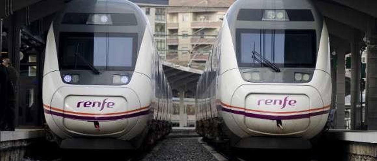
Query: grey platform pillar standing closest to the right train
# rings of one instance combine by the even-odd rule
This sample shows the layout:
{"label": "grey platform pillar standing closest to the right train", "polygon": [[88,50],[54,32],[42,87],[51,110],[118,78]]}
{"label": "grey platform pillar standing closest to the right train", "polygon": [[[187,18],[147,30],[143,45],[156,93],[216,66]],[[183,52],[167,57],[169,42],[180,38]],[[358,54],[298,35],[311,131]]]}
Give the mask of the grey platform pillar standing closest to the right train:
{"label": "grey platform pillar standing closest to the right train", "polygon": [[345,83],[345,51],[338,49],[336,68],[336,128],[344,129],[344,97],[346,91]]}

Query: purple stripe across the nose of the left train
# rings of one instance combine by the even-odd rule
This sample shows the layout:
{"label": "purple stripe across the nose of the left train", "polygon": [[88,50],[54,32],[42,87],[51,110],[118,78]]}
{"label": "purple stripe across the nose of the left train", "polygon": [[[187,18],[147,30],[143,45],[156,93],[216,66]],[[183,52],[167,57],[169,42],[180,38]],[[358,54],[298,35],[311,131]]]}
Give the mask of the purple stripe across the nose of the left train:
{"label": "purple stripe across the nose of the left train", "polygon": [[141,115],[147,115],[150,113],[150,110],[147,111],[141,111],[136,112],[133,114],[125,114],[125,115],[119,115],[119,116],[108,116],[108,117],[90,117],[90,116],[78,116],[78,115],[70,115],[70,114],[63,114],[60,112],[50,111],[47,109],[44,109],[44,112],[46,114],[56,115],[64,118],[72,118],[74,120],[86,120],[86,121],[112,121],[112,120],[121,120],[124,118],[130,118],[130,117],[137,117]]}

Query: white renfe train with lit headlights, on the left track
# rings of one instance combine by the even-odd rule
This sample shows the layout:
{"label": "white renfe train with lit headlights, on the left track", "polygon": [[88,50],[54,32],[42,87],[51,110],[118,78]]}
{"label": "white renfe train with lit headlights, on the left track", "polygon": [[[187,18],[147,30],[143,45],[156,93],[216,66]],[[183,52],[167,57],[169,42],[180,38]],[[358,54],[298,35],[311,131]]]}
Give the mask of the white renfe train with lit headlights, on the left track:
{"label": "white renfe train with lit headlights, on the left track", "polygon": [[[170,132],[172,93],[144,12],[74,0],[48,32],[46,122],[69,149],[136,149]],[[145,141],[145,142],[144,142]]]}

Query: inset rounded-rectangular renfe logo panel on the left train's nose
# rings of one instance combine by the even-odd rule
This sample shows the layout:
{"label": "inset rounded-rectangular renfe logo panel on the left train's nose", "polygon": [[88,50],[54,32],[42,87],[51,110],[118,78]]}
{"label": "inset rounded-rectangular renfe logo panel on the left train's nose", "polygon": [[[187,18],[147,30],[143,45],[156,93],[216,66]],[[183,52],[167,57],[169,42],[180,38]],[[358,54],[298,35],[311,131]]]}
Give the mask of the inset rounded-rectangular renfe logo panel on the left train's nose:
{"label": "inset rounded-rectangular renfe logo panel on the left train's nose", "polygon": [[64,111],[64,127],[81,134],[113,134],[127,126],[127,100],[123,97],[68,96]]}

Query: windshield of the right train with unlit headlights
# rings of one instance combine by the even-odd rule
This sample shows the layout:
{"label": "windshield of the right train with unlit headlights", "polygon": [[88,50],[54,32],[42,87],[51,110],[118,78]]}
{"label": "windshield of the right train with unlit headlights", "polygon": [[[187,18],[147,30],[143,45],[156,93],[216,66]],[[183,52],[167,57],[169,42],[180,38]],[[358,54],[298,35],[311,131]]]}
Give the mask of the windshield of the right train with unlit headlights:
{"label": "windshield of the right train with unlit headlights", "polygon": [[315,30],[237,29],[240,67],[315,68]]}

